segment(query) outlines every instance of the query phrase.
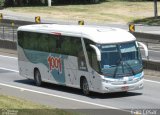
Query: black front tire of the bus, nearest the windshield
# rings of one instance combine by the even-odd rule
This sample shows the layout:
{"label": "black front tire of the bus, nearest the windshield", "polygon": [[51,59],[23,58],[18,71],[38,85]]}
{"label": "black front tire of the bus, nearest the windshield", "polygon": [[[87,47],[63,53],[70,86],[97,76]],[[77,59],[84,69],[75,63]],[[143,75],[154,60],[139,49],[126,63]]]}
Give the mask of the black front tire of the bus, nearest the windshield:
{"label": "black front tire of the bus, nearest the windshield", "polygon": [[90,94],[90,92],[89,92],[89,85],[88,85],[88,82],[87,82],[86,78],[84,78],[82,80],[82,92],[86,96],[88,96]]}

